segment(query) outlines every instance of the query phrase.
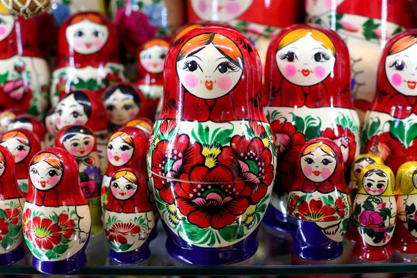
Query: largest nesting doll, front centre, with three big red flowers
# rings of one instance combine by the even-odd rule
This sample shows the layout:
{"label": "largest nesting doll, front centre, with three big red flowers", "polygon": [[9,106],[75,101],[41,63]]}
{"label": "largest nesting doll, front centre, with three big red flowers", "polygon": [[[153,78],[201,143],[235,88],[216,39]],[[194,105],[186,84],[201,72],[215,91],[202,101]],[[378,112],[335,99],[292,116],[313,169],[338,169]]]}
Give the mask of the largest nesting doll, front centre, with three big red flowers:
{"label": "largest nesting doll, front centre, with three big red flowers", "polygon": [[167,252],[225,265],[256,252],[276,152],[261,103],[261,60],[238,31],[196,28],[167,54],[148,170]]}

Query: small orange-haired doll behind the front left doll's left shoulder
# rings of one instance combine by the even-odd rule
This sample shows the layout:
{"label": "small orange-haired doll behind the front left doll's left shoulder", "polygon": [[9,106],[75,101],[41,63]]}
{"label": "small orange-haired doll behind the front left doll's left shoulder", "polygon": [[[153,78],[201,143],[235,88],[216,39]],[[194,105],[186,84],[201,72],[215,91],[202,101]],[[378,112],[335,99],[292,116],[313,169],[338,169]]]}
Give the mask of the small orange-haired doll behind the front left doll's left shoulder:
{"label": "small orange-haired doll behind the front left doll's left shoulder", "polygon": [[41,149],[38,136],[27,129],[13,129],[3,135],[0,145],[6,147],[13,154],[16,163],[17,184],[26,195],[28,193],[29,163]]}

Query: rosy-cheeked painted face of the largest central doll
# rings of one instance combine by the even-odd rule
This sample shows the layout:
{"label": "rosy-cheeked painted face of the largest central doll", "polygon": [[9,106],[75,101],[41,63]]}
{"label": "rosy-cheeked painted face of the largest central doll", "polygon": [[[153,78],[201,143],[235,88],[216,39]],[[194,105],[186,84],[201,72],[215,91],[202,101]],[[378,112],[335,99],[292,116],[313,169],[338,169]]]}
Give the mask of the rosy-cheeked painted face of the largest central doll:
{"label": "rosy-cheeked painted face of the largest central doll", "polygon": [[230,92],[242,76],[242,64],[220,53],[214,44],[177,62],[179,81],[196,97],[217,99]]}

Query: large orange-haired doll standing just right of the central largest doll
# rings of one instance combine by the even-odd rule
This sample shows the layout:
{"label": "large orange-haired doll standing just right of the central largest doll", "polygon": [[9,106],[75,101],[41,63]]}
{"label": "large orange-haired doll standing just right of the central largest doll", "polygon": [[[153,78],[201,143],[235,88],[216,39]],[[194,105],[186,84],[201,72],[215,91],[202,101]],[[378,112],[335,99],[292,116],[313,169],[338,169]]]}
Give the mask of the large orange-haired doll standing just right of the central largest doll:
{"label": "large orange-haired doll standing just right of the central largest doll", "polygon": [[278,164],[265,223],[287,231],[286,199],[304,142],[325,137],[341,148],[345,173],[359,154],[359,118],[350,98],[349,53],[328,28],[297,24],[271,42],[263,98]]}

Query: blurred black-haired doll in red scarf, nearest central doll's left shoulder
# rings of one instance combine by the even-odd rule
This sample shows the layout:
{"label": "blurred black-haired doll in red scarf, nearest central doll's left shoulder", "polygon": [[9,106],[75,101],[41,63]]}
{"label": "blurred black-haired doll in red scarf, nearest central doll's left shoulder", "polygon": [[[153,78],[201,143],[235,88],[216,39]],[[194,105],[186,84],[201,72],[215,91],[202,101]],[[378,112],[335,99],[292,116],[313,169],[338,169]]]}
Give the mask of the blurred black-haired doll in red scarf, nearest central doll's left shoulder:
{"label": "blurred black-haired doll in red scarf, nearest central doll's left shoulder", "polygon": [[107,88],[102,98],[108,118],[108,131],[116,129],[138,116],[147,116],[145,96],[131,83],[116,83]]}

